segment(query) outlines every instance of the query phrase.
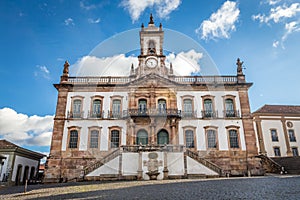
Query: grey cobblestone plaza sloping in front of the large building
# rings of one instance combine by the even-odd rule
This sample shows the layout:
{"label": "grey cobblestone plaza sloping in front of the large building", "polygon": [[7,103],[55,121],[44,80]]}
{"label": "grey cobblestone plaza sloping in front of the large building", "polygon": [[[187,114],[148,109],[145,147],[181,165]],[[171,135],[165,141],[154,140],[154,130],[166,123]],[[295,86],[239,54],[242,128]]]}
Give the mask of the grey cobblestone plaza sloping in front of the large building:
{"label": "grey cobblestone plaza sloping in front of the large building", "polygon": [[5,187],[0,199],[300,199],[300,176],[77,182]]}

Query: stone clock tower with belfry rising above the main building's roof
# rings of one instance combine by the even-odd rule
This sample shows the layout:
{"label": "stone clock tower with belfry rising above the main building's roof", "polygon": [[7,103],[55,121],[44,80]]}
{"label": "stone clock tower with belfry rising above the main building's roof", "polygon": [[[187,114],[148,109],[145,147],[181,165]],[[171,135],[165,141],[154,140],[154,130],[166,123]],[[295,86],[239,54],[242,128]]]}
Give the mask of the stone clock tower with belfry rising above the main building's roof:
{"label": "stone clock tower with belfry rising above the main building's roof", "polygon": [[137,78],[147,74],[158,74],[167,77],[169,70],[165,66],[166,56],[163,54],[164,31],[162,25],[156,27],[152,14],[148,27],[141,26],[139,66],[136,69]]}

